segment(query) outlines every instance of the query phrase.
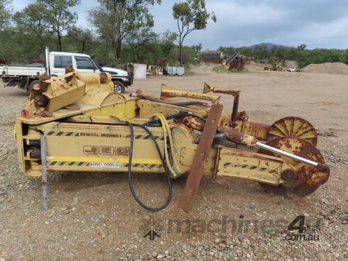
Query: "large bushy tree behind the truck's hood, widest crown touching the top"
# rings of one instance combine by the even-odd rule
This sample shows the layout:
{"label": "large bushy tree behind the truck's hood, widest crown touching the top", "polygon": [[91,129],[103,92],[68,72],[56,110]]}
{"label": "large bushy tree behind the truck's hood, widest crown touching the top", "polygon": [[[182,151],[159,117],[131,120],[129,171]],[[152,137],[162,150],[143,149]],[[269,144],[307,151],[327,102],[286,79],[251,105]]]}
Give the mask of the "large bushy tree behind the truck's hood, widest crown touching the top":
{"label": "large bushy tree behind the truck's hood, widest crown touching the top", "polygon": [[116,60],[121,58],[122,40],[127,33],[152,27],[148,6],[161,0],[97,0],[99,6],[89,11],[90,22],[111,48]]}

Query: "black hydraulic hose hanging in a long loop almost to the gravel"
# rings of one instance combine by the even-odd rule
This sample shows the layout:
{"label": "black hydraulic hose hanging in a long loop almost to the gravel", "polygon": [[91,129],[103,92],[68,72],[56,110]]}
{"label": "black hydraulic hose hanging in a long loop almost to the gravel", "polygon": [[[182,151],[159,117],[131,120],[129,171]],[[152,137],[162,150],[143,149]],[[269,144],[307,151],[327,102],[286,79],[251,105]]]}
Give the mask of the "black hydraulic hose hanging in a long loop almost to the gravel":
{"label": "black hydraulic hose hanging in a long loop almost to the gravel", "polygon": [[[129,129],[130,129],[129,163],[128,163],[128,184],[129,184],[129,189],[130,189],[130,191],[132,193],[132,196],[136,200],[136,203],[141,205],[141,207],[143,207],[146,210],[152,211],[152,212],[161,211],[161,210],[165,209],[166,207],[168,207],[168,205],[171,203],[171,200],[172,200],[172,197],[173,197],[173,188],[172,188],[172,183],[171,183],[171,177],[169,177],[169,170],[168,170],[168,166],[166,164],[166,161],[164,160],[164,157],[161,154],[161,150],[159,149],[159,145],[158,145],[158,143],[156,141],[155,136],[152,134],[150,129],[148,129],[148,127],[145,127],[143,125],[138,125],[138,124],[132,124],[131,122],[128,122],[127,120],[125,122],[129,126]],[[166,203],[164,203],[164,205],[162,205],[161,207],[149,207],[149,206],[145,205],[140,200],[140,198],[136,194],[136,192],[134,191],[134,186],[133,186],[133,182],[132,182],[132,158],[133,158],[133,146],[134,146],[134,127],[133,126],[142,127],[143,129],[145,129],[146,132],[148,132],[148,134],[151,137],[152,141],[156,145],[159,158],[161,159],[162,166],[164,167],[164,171],[166,173],[166,179],[167,179],[167,183],[168,183],[168,198],[166,200]]]}

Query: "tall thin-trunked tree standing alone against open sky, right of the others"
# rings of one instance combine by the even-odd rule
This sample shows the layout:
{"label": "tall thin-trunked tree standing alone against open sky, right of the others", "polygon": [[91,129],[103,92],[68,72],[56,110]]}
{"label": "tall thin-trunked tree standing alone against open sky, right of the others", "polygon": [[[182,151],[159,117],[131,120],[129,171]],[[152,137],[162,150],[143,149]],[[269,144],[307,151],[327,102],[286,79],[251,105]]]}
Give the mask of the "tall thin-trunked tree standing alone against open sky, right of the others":
{"label": "tall thin-trunked tree standing alone against open sky, right of the others", "polygon": [[207,28],[209,18],[216,22],[216,15],[205,8],[205,0],[187,0],[173,5],[173,17],[177,21],[179,31],[179,62],[182,66],[182,44],[184,39],[195,30]]}

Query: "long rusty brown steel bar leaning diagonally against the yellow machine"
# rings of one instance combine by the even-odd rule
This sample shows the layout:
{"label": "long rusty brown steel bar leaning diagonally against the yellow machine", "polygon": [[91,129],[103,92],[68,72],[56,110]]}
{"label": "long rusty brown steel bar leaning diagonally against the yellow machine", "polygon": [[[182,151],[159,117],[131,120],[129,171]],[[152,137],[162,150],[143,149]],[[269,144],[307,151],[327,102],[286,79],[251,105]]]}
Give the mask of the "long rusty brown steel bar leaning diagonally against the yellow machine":
{"label": "long rusty brown steel bar leaning diagonally against the yellow machine", "polygon": [[189,177],[187,177],[184,192],[182,193],[182,198],[179,203],[180,209],[184,210],[184,212],[189,212],[193,203],[193,198],[198,192],[200,180],[203,176],[204,163],[207,161],[210,148],[212,148],[214,135],[219,124],[222,109],[222,105],[215,104],[210,108],[202,136],[200,137],[200,143],[198,144],[196,155],[193,159],[191,171],[189,172]]}

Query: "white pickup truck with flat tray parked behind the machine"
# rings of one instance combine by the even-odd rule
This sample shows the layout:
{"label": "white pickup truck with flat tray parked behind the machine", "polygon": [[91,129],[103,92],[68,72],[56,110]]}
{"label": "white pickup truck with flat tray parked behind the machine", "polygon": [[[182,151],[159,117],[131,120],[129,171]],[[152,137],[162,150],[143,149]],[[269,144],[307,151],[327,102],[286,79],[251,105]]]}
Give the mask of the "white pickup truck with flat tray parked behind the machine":
{"label": "white pickup truck with flat tray parked behind the machine", "polygon": [[126,86],[133,84],[133,77],[124,70],[101,67],[87,54],[68,52],[49,52],[46,48],[46,64],[32,63],[29,65],[0,65],[0,77],[6,86],[19,86],[28,93],[39,82],[40,74],[47,72],[51,77],[65,74],[65,68],[72,66],[78,72],[109,72],[114,90],[124,93]]}

